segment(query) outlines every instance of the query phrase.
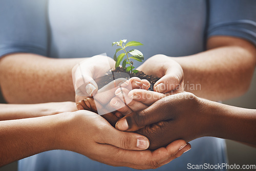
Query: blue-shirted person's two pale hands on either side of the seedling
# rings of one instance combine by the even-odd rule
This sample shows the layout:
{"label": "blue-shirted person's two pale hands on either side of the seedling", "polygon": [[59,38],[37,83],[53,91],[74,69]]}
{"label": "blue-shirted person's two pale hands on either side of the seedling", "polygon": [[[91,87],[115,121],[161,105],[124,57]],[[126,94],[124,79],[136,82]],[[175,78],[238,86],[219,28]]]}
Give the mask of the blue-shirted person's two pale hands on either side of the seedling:
{"label": "blue-shirted person's two pale hands on either side of the seedling", "polygon": [[[78,102],[95,95],[98,91],[95,79],[105,75],[112,68],[115,68],[115,61],[102,55],[88,58],[74,67],[72,75],[76,91],[75,101]],[[154,85],[156,92],[181,93],[184,91],[181,66],[165,55],[155,55],[147,59],[137,70],[161,78]]]}

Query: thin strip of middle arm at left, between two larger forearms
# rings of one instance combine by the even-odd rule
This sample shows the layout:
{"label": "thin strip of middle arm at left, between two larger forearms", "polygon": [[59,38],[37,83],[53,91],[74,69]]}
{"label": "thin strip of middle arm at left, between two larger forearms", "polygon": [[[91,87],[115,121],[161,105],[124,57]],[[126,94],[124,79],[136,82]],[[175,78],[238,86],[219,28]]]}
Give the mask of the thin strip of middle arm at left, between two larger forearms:
{"label": "thin strip of middle arm at left, between two larger forearms", "polygon": [[0,104],[0,121],[55,115],[77,111],[75,102],[51,102],[40,104]]}

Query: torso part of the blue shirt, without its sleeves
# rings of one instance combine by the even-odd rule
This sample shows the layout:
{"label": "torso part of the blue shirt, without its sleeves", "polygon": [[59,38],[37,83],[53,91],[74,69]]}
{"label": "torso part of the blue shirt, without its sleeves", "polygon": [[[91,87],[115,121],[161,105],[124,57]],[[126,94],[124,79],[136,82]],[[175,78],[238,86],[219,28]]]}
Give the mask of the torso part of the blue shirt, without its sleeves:
{"label": "torso part of the blue shirt, without its sleeves", "polygon": [[[51,57],[113,56],[113,41],[140,41],[145,58],[203,51],[205,1],[50,1]],[[139,63],[136,63],[138,66]],[[185,170],[188,163],[225,162],[225,144],[216,138],[191,142],[192,149],[159,170]],[[133,170],[112,167],[68,151],[45,152],[19,162],[19,170]]]}

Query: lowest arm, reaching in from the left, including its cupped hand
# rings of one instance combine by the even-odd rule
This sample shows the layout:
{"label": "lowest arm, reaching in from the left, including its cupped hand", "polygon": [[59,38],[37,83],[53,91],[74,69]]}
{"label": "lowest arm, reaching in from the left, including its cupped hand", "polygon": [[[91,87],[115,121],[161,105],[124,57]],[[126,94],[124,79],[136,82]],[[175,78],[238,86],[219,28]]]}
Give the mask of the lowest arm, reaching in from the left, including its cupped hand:
{"label": "lowest arm, reaching in from the left, including its cupped hand", "polygon": [[156,168],[190,148],[187,144],[180,149],[185,142],[179,140],[155,152],[138,151],[148,147],[147,138],[120,132],[89,111],[1,121],[0,125],[0,166],[40,152],[66,149],[114,166]]}

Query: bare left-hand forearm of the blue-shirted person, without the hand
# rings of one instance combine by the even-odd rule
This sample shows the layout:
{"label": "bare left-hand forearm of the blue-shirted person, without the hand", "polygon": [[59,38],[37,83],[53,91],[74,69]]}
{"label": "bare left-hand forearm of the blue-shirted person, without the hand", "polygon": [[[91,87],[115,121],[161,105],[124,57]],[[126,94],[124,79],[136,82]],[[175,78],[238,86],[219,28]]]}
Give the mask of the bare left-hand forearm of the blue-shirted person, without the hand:
{"label": "bare left-hand forearm of the blue-shirted person, without the hand", "polygon": [[10,54],[0,59],[0,84],[9,103],[74,101],[72,68],[84,58]]}

